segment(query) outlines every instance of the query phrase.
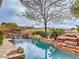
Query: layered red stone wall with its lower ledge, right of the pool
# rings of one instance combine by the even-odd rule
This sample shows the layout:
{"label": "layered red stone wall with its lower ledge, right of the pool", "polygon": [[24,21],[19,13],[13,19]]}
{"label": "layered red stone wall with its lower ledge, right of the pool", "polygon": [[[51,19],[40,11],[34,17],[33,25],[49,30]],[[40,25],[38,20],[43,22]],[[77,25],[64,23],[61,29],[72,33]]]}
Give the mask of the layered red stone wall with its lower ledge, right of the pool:
{"label": "layered red stone wall with its lower ledge, right of the pool", "polygon": [[56,47],[60,50],[79,55],[79,37],[73,34],[58,36]]}

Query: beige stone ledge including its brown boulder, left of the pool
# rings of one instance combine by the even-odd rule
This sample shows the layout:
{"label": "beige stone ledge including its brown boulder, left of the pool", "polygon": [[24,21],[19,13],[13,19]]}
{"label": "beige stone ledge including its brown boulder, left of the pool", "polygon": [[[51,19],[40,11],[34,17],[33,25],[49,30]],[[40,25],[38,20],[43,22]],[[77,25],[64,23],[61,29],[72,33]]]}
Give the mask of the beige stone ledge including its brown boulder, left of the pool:
{"label": "beige stone ledge including its brown boulder, left of the pool", "polygon": [[[18,59],[24,57],[24,49],[16,48],[9,40],[12,39],[4,39],[2,46],[0,46],[0,56],[3,56],[6,59]],[[1,59],[1,58],[0,58]]]}

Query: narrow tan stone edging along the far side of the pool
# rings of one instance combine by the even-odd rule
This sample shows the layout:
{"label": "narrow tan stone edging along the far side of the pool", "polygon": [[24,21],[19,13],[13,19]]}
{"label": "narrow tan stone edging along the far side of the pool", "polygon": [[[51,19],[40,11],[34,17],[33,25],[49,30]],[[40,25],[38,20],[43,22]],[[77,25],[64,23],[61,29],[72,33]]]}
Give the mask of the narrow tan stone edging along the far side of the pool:
{"label": "narrow tan stone edging along the far side of the pool", "polygon": [[[56,40],[55,39],[47,39],[47,38],[43,38],[43,37],[41,37],[41,36],[38,36],[38,35],[29,35],[29,38],[31,38],[31,39],[33,39],[33,40],[38,40],[38,41],[40,41],[40,42],[43,42],[43,43],[45,43],[45,44],[48,44],[48,45],[50,45],[50,46],[55,46],[56,48],[58,48],[57,46],[56,46]],[[68,52],[68,53],[72,53],[72,54],[74,54],[74,55],[79,55],[79,53],[78,52],[74,52],[74,51],[72,51],[72,50],[68,50],[68,49],[62,49],[62,48],[58,48],[59,50],[61,50],[61,51],[65,51],[65,52]]]}

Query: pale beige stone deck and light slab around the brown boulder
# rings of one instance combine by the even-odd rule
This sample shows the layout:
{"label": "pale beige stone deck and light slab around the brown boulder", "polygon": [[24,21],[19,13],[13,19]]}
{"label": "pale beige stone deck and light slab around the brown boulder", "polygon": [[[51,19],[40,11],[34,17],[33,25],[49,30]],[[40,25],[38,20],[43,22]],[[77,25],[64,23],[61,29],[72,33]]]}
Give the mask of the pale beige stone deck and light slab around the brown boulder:
{"label": "pale beige stone deck and light slab around the brown boulder", "polygon": [[12,41],[12,38],[3,39],[3,44],[0,46],[0,58],[4,58],[4,59],[17,59],[19,57],[23,58],[24,53],[8,55],[11,52],[18,51],[17,50],[18,48],[16,48],[10,41]]}

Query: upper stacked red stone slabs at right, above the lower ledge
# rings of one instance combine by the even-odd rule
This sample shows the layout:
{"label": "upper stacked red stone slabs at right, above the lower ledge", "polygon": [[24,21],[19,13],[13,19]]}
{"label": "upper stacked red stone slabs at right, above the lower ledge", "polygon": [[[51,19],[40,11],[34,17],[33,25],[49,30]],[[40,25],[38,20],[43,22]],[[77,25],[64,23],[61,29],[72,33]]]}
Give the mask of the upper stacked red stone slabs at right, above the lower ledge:
{"label": "upper stacked red stone slabs at right, above the lower ledge", "polygon": [[72,46],[79,46],[79,38],[74,34],[60,35],[56,39],[56,43],[64,43]]}

